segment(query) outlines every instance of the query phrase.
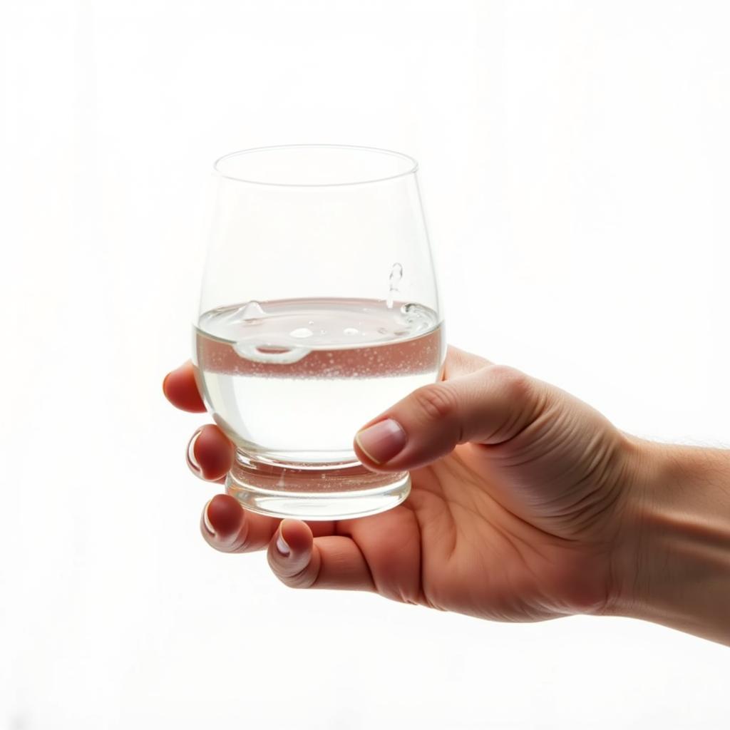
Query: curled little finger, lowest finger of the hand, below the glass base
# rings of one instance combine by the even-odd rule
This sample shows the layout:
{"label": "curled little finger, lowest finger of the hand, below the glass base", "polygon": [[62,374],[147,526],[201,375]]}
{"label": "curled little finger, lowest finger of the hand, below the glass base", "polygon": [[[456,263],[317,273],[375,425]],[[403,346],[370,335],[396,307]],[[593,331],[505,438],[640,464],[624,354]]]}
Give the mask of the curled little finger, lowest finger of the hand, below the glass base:
{"label": "curled little finger, lowest finger of the hand, below the glass base", "polygon": [[374,591],[370,569],[351,537],[312,537],[298,520],[282,520],[269,540],[269,566],[290,588]]}

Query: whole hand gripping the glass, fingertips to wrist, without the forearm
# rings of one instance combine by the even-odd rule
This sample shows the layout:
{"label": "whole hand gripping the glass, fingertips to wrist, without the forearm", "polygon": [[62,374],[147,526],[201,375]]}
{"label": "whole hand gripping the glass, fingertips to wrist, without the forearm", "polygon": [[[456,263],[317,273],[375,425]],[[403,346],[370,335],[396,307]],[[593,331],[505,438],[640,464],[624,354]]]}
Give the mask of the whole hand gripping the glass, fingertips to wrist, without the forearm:
{"label": "whole hand gripping the glass, fingertips to wrist, without the forearm", "polygon": [[[204,411],[189,363],[166,377],[164,392],[183,410]],[[375,471],[410,470],[404,504],[304,523],[245,512],[218,495],[204,508],[203,537],[227,553],[266,548],[274,574],[295,588],[377,591],[500,621],[607,610],[637,447],[602,415],[450,348],[442,382],[367,426],[358,458]],[[208,425],[188,455],[193,472],[222,482],[234,449]]]}

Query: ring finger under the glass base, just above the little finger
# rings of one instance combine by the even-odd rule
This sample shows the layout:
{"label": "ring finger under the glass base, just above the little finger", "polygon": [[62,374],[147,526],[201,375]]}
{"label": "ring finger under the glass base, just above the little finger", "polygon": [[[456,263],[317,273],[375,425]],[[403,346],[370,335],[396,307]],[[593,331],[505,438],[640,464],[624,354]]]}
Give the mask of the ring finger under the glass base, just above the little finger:
{"label": "ring finger under the glass base, just above the little finger", "polygon": [[[228,494],[216,494],[203,509],[200,531],[208,545],[221,553],[248,553],[266,548],[277,534],[280,521],[244,510],[237,499]],[[312,526],[298,524],[304,525],[310,537],[312,530],[316,535],[331,534],[334,530],[331,520]]]}

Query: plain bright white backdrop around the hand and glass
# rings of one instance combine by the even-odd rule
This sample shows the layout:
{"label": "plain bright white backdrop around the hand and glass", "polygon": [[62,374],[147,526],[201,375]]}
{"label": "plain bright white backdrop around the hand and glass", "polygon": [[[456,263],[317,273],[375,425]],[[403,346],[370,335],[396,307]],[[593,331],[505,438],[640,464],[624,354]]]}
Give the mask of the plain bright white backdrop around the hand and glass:
{"label": "plain bright white backdrop around the hand and glass", "polygon": [[708,728],[729,650],[296,592],[204,544],[188,357],[218,155],[420,161],[450,342],[730,443],[730,6],[0,5],[0,727]]}

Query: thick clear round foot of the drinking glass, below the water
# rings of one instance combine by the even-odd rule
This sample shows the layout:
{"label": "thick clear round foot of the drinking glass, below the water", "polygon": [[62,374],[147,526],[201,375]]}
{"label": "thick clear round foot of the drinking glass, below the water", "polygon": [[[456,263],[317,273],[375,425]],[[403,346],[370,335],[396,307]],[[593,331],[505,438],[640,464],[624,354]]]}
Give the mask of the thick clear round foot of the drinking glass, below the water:
{"label": "thick clear round foot of the drinking glass, below the water", "polygon": [[260,515],[347,520],[401,504],[410,493],[410,475],[376,474],[361,464],[274,466],[238,451],[226,491]]}

